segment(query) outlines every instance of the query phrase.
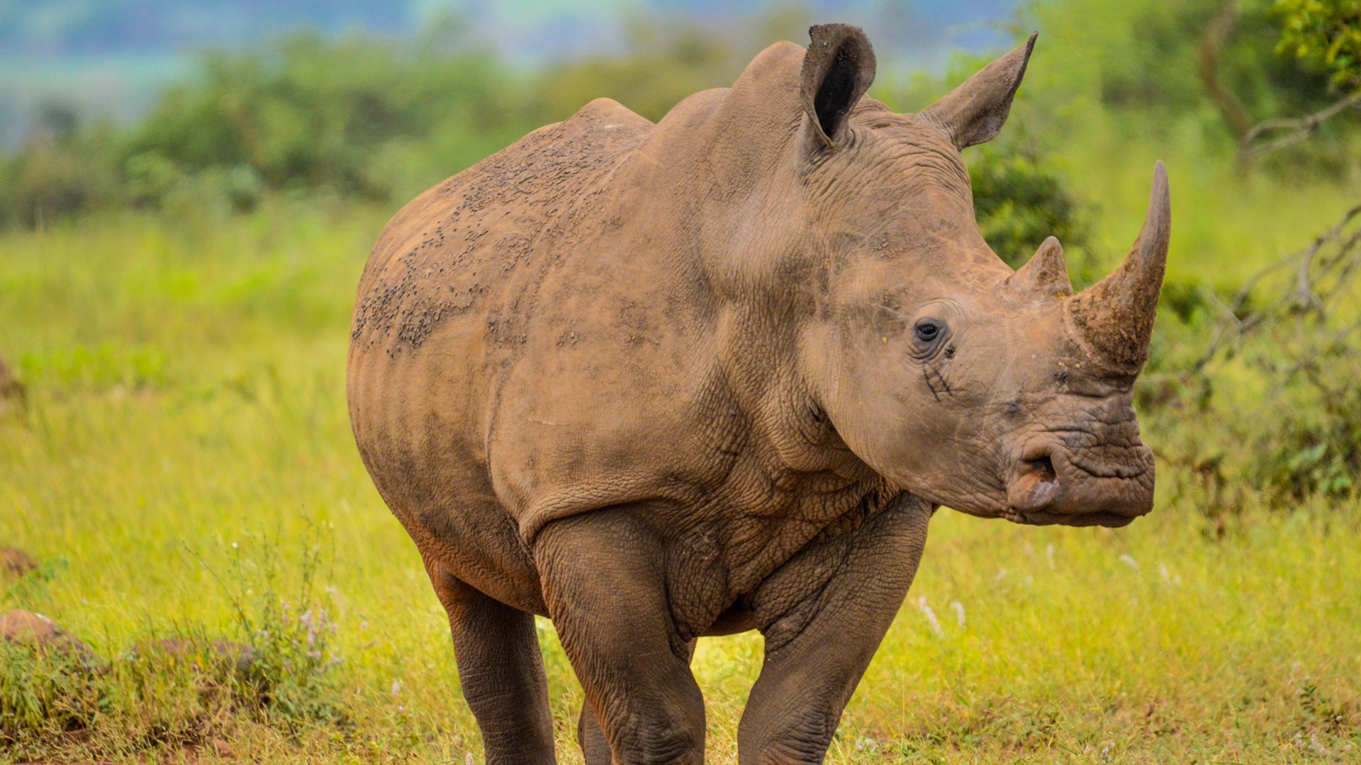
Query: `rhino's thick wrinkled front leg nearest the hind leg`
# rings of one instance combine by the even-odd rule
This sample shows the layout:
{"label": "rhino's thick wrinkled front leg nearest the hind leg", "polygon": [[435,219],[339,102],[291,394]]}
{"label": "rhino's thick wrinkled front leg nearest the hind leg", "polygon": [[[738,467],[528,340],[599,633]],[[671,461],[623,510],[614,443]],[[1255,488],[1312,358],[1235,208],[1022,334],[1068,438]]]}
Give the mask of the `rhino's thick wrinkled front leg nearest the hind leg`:
{"label": "rhino's thick wrinkled front leg nearest the hind leg", "polygon": [[[548,615],[617,764],[704,761],[693,641],[671,615],[667,549],[636,508],[546,525],[534,544]],[[589,720],[581,726],[589,738]]]}

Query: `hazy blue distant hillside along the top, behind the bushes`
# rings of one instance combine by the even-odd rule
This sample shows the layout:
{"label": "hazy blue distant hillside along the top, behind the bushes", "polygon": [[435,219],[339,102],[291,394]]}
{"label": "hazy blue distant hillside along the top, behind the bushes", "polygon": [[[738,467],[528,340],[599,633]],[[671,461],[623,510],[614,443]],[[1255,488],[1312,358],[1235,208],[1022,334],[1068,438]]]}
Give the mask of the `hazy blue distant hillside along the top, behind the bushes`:
{"label": "hazy blue distant hillside along the top, behind the bushes", "polygon": [[[242,48],[302,29],[401,37],[459,19],[517,65],[618,49],[640,18],[724,23],[778,18],[799,38],[813,22],[870,30],[882,65],[932,67],[951,49],[1004,35],[1021,0],[0,0],[0,144],[12,146],[41,114],[127,120],[184,76],[195,52]],[[792,27],[784,30],[784,27]]]}

